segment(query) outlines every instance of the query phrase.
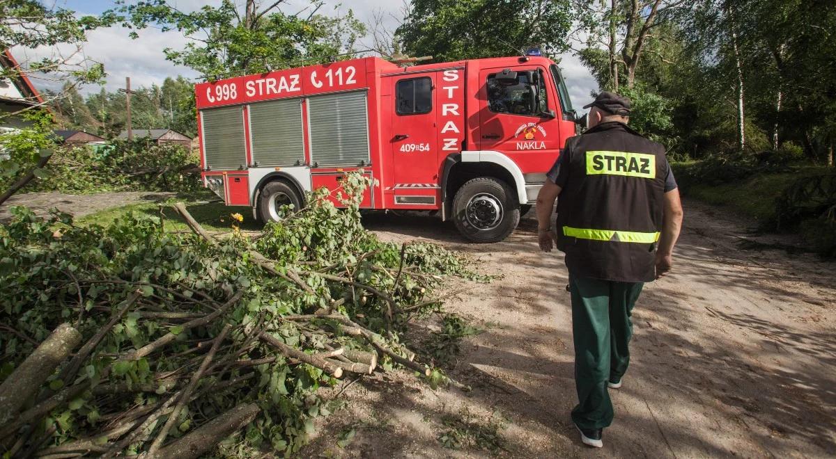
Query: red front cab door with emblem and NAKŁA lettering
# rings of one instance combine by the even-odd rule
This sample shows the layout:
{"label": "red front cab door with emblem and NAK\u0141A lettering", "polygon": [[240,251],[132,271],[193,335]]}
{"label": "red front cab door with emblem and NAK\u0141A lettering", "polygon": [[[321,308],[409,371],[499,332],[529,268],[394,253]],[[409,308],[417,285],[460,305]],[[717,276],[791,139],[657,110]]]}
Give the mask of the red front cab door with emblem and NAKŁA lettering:
{"label": "red front cab door with emblem and NAK\u0141A lettering", "polygon": [[[548,170],[563,147],[560,142],[558,98],[547,68],[526,65],[483,69],[479,74],[477,141],[482,150],[507,154],[523,171]],[[511,77],[513,75],[510,75]]]}

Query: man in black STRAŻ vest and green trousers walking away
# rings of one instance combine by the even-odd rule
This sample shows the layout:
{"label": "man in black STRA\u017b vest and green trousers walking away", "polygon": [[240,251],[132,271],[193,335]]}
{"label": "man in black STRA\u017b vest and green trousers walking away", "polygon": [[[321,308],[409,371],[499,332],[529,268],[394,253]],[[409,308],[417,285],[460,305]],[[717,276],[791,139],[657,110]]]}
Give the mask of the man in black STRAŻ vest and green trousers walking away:
{"label": "man in black STRA\u017b vest and green trousers walking away", "polygon": [[609,389],[621,387],[630,362],[633,306],[645,282],[670,271],[682,206],[665,147],[627,126],[630,99],[604,92],[584,108],[589,129],[568,139],[538,194],[538,240],[549,252],[556,237],[566,254],[578,391],[572,420],[584,444],[601,447],[614,415]]}

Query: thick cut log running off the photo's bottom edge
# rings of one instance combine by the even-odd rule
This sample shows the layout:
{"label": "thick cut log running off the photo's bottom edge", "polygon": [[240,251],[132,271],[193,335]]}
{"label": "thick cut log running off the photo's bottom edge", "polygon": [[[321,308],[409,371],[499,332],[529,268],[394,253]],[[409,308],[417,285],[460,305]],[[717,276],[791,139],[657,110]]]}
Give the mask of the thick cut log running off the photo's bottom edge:
{"label": "thick cut log running off the photo's bottom edge", "polygon": [[244,428],[261,412],[255,403],[239,405],[217,416],[212,421],[197,427],[195,431],[172,441],[160,450],[155,457],[176,457],[177,459],[196,459],[209,452],[227,436]]}

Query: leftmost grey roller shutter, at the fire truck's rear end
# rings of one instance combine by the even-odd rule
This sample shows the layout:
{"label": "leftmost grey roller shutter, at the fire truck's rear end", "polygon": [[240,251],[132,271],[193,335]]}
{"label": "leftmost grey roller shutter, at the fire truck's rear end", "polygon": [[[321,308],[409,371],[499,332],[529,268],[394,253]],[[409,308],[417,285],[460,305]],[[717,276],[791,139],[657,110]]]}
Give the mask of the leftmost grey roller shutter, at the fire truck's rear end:
{"label": "leftmost grey roller shutter, at the fire truck's rear end", "polygon": [[242,107],[201,110],[203,152],[212,170],[247,167]]}

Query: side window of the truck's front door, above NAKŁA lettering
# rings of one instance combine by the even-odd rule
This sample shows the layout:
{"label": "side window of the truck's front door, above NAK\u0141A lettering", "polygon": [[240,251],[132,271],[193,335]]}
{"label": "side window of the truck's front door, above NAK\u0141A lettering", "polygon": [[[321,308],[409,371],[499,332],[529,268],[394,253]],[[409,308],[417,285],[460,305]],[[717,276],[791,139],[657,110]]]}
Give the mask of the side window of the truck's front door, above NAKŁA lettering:
{"label": "side window of the truck's front door, above NAK\u0141A lettering", "polygon": [[517,73],[517,83],[500,83],[496,74],[487,76],[487,107],[493,113],[538,116],[548,112],[548,100],[543,72],[529,81],[528,73]]}

